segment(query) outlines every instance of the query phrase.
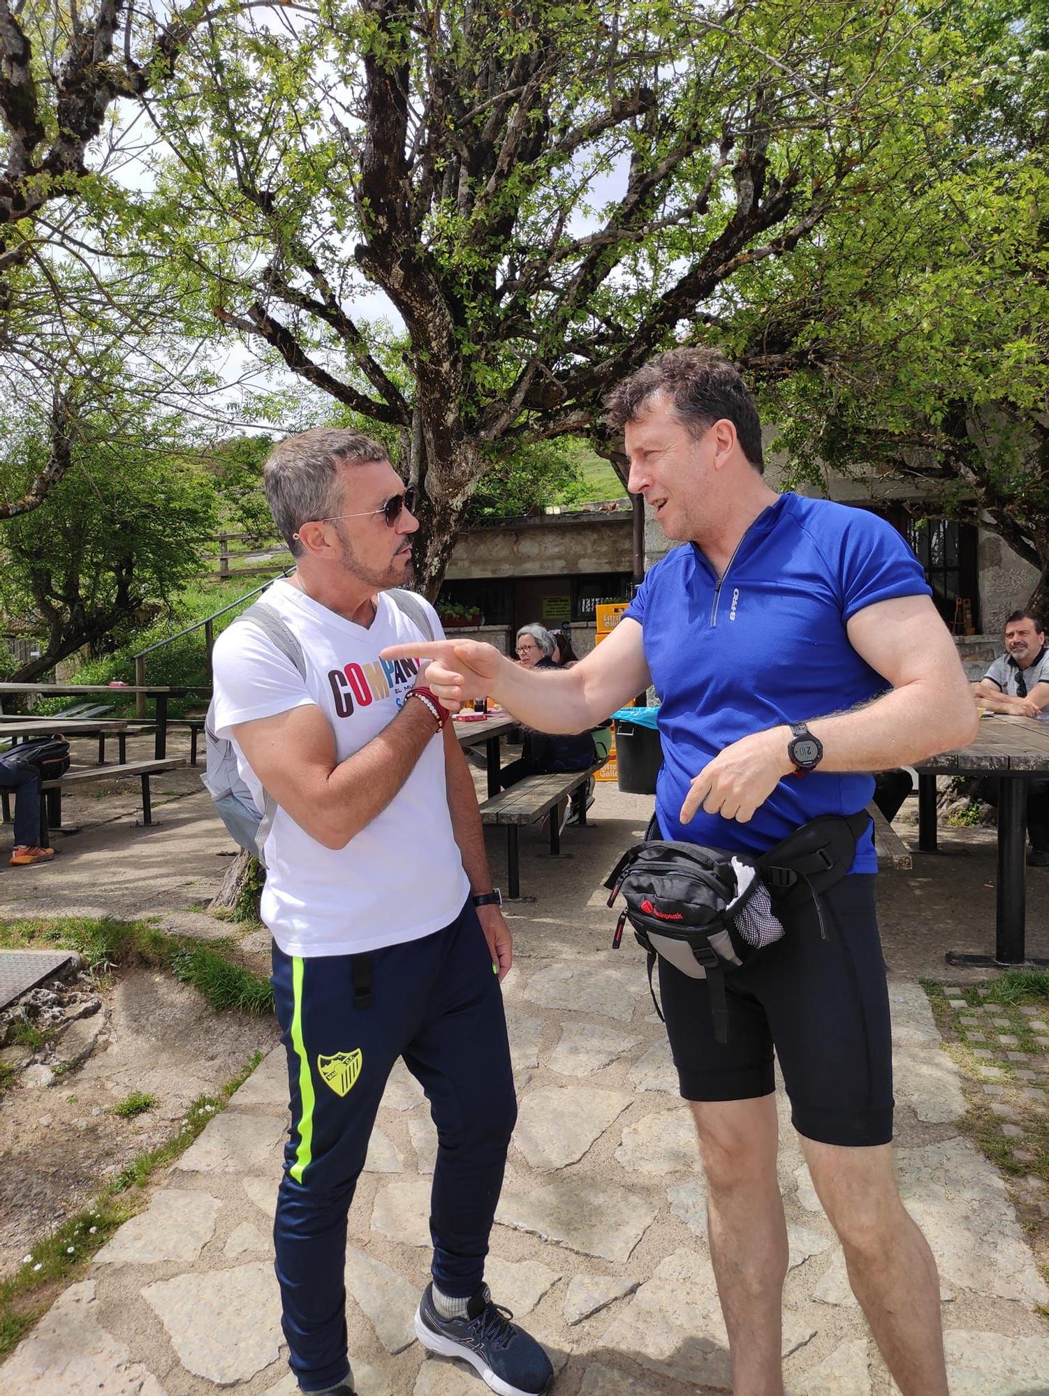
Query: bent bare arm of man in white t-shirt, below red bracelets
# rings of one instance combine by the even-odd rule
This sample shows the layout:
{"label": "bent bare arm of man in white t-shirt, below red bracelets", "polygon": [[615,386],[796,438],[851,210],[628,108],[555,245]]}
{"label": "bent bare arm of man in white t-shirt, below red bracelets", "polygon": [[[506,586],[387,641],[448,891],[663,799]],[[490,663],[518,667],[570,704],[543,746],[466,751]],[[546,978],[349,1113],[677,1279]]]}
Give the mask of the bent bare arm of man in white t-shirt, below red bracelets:
{"label": "bent bare arm of man in white t-shirt, below red bracelets", "polygon": [[335,758],[335,736],[313,705],[233,727],[267,794],[311,839],[342,849],[390,804],[436,736],[433,713],[415,699],[360,751]]}

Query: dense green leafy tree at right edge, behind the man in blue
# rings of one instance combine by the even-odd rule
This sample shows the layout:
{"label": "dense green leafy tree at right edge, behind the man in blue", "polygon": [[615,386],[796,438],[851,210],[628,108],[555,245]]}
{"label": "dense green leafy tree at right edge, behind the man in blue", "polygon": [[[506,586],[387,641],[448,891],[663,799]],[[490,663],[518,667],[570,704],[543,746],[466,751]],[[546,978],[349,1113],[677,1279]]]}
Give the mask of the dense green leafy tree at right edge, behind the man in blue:
{"label": "dense green leafy tree at right edge, behind the man in blue", "polygon": [[1046,613],[1049,6],[947,7],[922,73],[943,121],[894,133],[819,248],[749,278],[736,346],[796,476],[912,482],[923,517],[979,522],[1035,565]]}

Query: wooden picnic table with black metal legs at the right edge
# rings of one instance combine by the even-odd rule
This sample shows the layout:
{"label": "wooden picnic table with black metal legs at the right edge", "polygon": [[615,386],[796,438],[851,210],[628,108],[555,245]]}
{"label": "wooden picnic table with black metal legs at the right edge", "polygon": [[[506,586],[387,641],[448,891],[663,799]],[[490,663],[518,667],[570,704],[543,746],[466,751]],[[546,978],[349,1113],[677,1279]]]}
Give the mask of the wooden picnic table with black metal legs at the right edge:
{"label": "wooden picnic table with black metal legs at the right edge", "polygon": [[968,747],[944,751],[915,768],[918,771],[918,847],[936,853],[936,778],[943,775],[992,776],[999,780],[997,881],[995,953],[947,952],[950,965],[1000,967],[1049,965],[1027,959],[1027,893],[1024,856],[1027,850],[1027,780],[1049,776],[1049,723],[1011,713],[981,718],[976,740]]}

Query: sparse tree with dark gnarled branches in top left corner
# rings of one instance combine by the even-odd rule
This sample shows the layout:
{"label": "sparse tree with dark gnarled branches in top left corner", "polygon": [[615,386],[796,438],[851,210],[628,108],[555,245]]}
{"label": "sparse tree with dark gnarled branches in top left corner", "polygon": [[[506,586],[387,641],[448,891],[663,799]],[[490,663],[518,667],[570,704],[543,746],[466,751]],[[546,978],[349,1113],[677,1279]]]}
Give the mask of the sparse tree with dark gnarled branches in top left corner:
{"label": "sparse tree with dark gnarled branches in top left corner", "polygon": [[129,324],[141,345],[141,320],[156,318],[155,288],[140,286],[120,327],[103,324],[124,290],[123,274],[99,265],[124,216],[117,103],[141,103],[170,77],[204,11],[197,0],[161,15],[126,0],[0,0],[0,371],[6,416],[21,399],[21,426],[50,443],[38,473],[0,498],[0,518],[38,508],[71,468],[74,383],[95,376],[99,348]]}

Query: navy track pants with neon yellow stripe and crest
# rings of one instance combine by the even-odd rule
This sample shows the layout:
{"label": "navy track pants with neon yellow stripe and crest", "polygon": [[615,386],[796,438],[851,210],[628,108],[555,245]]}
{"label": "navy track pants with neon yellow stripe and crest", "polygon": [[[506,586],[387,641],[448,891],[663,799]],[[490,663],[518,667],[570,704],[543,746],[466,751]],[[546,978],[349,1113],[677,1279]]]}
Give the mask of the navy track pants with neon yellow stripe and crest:
{"label": "navy track pants with neon yellow stripe and crest", "polygon": [[397,1058],[426,1092],[437,1127],[430,1238],[444,1294],[465,1298],[483,1283],[517,1120],[503,995],[471,902],[433,935],[369,952],[369,1007],[355,1004],[353,959],[289,956],[274,945],[292,1106],[277,1279],[291,1367],[307,1392],[338,1383],[349,1365],[346,1213]]}

